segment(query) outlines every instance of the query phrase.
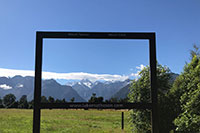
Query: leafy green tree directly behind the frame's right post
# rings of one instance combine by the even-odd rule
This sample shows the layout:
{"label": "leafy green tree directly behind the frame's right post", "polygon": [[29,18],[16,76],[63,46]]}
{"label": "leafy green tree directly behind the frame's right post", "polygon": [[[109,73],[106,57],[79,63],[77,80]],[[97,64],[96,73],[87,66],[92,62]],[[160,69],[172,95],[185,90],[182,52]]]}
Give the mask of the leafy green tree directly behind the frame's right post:
{"label": "leafy green tree directly behind the frame's right post", "polygon": [[[129,102],[144,102],[149,103],[150,99],[150,68],[145,67],[139,73],[139,79],[134,80],[130,87],[128,95]],[[167,103],[167,93],[171,88],[171,71],[168,67],[157,65],[157,87],[158,87],[158,104],[159,104],[159,131],[162,133],[169,132],[169,117]],[[151,132],[151,118],[149,110],[132,110],[130,120],[134,132],[149,133]]]}

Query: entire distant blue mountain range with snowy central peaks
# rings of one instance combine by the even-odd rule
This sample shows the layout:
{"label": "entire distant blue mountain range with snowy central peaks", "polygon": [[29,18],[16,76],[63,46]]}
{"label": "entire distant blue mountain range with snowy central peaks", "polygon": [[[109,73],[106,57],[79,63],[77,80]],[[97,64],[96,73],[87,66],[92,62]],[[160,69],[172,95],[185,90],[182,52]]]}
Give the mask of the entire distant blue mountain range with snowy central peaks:
{"label": "entire distant blue mountain range with snowy central peaks", "polygon": [[[170,82],[174,82],[178,74],[171,74]],[[91,82],[88,79],[83,79],[75,82],[68,82],[65,85],[59,84],[54,79],[42,80],[42,96],[54,97],[55,99],[65,99],[70,101],[75,98],[75,102],[86,102],[90,99],[93,93],[97,97],[102,96],[104,100],[110,98],[123,99],[129,93],[131,80],[125,81],[95,81]],[[34,77],[31,76],[14,76],[0,77],[0,98],[6,94],[12,93],[19,100],[22,95],[27,95],[30,101],[34,94]]]}

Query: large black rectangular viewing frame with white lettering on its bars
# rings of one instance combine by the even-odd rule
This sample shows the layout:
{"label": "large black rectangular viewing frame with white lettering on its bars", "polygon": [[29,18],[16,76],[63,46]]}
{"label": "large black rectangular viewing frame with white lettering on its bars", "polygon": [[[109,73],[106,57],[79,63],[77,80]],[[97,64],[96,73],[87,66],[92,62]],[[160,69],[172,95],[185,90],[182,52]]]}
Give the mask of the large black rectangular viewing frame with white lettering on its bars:
{"label": "large black rectangular viewing frame with white lettering on its bars", "polygon": [[[144,39],[149,40],[150,59],[150,103],[41,103],[42,49],[43,39]],[[141,32],[36,32],[36,59],[34,84],[33,133],[40,133],[41,109],[149,109],[151,110],[152,132],[158,133],[156,40],[155,33]]]}

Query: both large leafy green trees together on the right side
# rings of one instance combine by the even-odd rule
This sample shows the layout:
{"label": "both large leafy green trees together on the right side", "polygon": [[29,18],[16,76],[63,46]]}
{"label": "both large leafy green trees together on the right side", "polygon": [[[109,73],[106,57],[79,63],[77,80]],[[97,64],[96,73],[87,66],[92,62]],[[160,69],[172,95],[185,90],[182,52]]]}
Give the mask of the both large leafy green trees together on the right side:
{"label": "both large leafy green trees together on the right side", "polygon": [[[200,132],[200,48],[194,45],[190,62],[171,82],[167,66],[157,65],[159,132]],[[146,66],[130,87],[129,102],[150,102],[150,69]],[[132,110],[131,126],[136,133],[151,132],[151,112]]]}

